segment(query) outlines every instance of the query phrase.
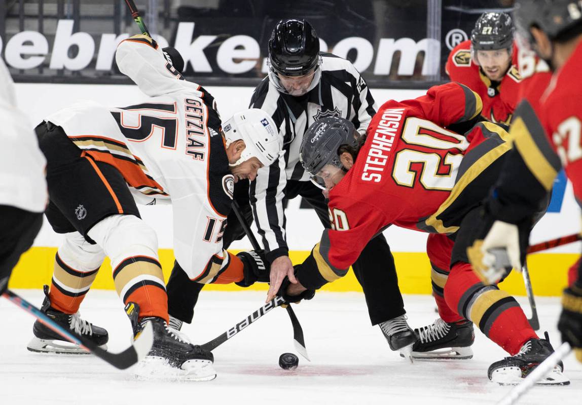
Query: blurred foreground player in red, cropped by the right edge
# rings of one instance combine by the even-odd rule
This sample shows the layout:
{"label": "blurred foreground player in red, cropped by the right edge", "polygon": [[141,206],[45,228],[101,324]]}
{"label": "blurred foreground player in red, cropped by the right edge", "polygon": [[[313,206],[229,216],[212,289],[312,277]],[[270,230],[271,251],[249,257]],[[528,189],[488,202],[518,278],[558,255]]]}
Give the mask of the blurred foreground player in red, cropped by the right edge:
{"label": "blurred foreground player in red, cropped by the right edge", "polygon": [[[571,0],[518,1],[520,35],[551,66],[552,80],[540,100],[524,100],[510,129],[514,149],[506,169],[485,201],[471,263],[486,282],[506,274],[509,262],[520,269],[527,251],[535,204],[551,189],[560,168],[582,201],[582,5]],[[495,254],[494,254],[495,251]],[[582,267],[563,292],[558,329],[582,361]],[[519,367],[540,347],[525,347],[499,368]]]}

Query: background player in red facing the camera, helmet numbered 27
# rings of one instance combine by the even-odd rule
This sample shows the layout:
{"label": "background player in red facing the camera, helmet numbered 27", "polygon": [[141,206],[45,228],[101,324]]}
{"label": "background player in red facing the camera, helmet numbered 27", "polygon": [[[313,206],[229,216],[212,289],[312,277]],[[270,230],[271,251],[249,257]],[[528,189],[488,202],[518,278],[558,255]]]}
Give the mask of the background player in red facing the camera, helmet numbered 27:
{"label": "background player in red facing the camera, helmet numbered 27", "polygon": [[511,17],[487,12],[475,23],[471,39],[450,51],[445,70],[450,80],[480,95],[481,114],[486,119],[509,125],[519,101],[521,76],[517,62]]}

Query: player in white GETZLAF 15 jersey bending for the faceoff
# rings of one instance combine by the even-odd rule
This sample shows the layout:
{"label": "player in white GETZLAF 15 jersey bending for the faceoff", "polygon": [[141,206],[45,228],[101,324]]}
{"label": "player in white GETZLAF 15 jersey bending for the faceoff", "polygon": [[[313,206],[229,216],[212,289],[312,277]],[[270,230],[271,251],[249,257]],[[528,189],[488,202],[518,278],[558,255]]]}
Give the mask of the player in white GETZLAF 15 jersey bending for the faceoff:
{"label": "player in white GETZLAF 15 jersey bending for the faceoff", "polygon": [[[104,329],[77,314],[107,255],[134,335],[152,322],[151,356],[186,370],[189,379],[207,380],[215,377],[212,353],[168,326],[157,236],[140,219],[136,201],[172,204],[174,254],[190,278],[240,282],[257,265],[251,254],[222,249],[233,185],[253,179],[282,145],[271,118],[257,109],[221,125],[214,98],[173,66],[179,54],[168,59],[145,35],[121,42],[119,70],[151,99],[123,108],[79,102],[37,127],[48,161],[46,215],[65,234],[42,309],[95,342],[107,342]],[[39,322],[34,335],[30,350],[76,350],[63,348]]]}

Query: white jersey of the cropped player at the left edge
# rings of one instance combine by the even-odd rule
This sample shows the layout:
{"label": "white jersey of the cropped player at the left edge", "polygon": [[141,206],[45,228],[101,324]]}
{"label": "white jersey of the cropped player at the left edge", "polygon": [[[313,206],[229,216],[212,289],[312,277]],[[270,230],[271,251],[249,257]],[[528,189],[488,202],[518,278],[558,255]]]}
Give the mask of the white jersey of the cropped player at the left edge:
{"label": "white jersey of the cropped player at the left edge", "polygon": [[44,212],[47,161],[29,119],[16,106],[14,83],[0,58],[0,205]]}

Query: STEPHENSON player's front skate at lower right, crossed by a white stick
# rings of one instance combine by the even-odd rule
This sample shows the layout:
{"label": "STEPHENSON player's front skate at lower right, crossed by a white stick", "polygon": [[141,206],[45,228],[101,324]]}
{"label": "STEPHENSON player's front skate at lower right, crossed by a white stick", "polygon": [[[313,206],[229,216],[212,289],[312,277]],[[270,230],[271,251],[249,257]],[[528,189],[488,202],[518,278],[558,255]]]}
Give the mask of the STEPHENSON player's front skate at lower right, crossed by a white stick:
{"label": "STEPHENSON player's front skate at lower right, crossed by a white stick", "polygon": [[[552,353],[553,347],[546,332],[545,339],[530,339],[515,356],[491,364],[487,374],[491,381],[500,385],[516,385]],[[569,385],[570,380],[562,374],[563,370],[564,364],[560,361],[536,385]]]}

